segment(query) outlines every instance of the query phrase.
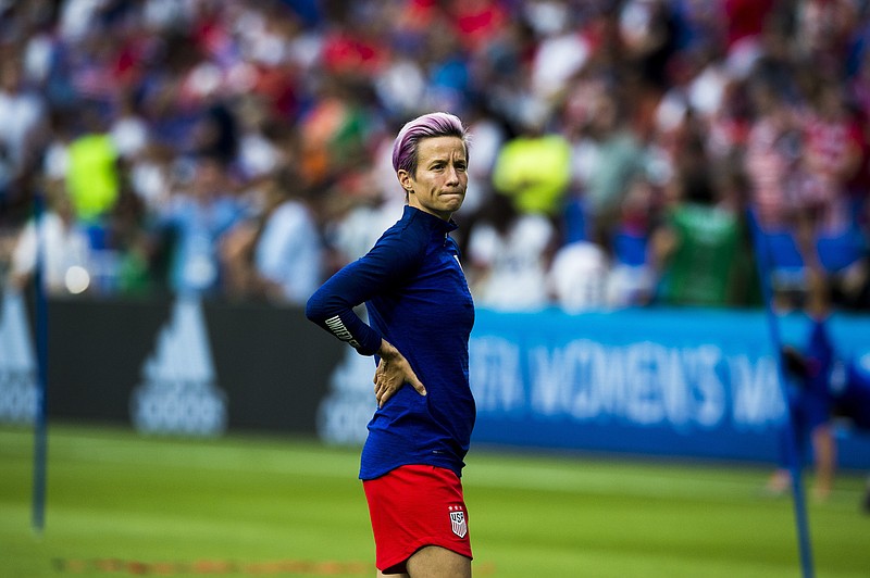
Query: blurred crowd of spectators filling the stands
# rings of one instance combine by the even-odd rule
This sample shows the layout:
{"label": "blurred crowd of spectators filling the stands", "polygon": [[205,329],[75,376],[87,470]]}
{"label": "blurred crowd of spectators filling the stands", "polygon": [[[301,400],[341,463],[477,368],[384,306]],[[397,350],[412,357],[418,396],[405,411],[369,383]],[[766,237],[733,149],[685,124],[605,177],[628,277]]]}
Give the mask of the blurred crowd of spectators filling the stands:
{"label": "blurred crowd of spectators filling the stands", "polygon": [[759,263],[799,294],[809,218],[868,309],[868,4],[0,0],[0,274],[303,303],[400,216],[393,139],[443,110],[478,305],[754,306]]}

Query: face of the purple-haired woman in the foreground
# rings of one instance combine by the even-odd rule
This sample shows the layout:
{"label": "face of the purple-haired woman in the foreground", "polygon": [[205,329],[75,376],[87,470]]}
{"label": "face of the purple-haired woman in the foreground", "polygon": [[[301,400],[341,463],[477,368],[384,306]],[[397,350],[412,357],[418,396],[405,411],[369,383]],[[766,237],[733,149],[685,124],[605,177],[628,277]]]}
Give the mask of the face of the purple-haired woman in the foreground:
{"label": "face of the purple-haired woman in the foreground", "polygon": [[462,206],[469,185],[465,144],[459,137],[432,137],[417,149],[417,173],[397,173],[408,204],[444,221]]}

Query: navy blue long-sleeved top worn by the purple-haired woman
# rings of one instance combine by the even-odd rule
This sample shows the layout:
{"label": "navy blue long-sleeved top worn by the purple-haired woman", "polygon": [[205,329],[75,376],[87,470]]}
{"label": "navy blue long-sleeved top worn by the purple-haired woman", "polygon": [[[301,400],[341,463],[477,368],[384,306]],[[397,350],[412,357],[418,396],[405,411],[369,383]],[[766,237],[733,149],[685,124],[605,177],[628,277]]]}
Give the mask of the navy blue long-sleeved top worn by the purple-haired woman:
{"label": "navy blue long-sleeved top worn by the purple-haired woman", "polygon": [[[369,423],[360,478],[374,479],[410,464],[462,475],[474,427],[469,387],[469,336],[474,304],[449,236],[456,224],[406,206],[361,259],[343,267],[314,292],[307,317],[375,355],[382,337],[411,364],[426,388],[405,384]],[[353,307],[365,303],[369,324]]]}

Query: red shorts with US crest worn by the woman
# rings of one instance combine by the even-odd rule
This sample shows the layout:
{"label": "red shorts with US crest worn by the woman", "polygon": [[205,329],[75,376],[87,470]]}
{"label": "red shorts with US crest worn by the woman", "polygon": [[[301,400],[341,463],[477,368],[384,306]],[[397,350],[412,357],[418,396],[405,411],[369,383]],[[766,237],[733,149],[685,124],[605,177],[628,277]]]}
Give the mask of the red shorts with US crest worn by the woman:
{"label": "red shorts with US crest worn by the woman", "polygon": [[362,487],[381,571],[405,573],[408,558],[426,545],[472,557],[462,483],[449,469],[401,466]]}

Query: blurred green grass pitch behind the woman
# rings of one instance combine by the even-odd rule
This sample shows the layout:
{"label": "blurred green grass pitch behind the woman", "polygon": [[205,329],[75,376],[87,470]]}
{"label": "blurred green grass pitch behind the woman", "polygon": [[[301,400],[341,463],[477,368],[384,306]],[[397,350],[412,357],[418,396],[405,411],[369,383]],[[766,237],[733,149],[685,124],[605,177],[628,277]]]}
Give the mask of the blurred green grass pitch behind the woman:
{"label": "blurred green grass pitch behind the woman", "polygon": [[[356,449],[52,424],[41,533],[32,454],[28,429],[0,428],[2,578],[374,576]],[[799,577],[792,502],[762,497],[767,474],[472,448],[475,575]],[[862,488],[842,475],[808,504],[819,578],[870,576]]]}

